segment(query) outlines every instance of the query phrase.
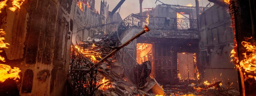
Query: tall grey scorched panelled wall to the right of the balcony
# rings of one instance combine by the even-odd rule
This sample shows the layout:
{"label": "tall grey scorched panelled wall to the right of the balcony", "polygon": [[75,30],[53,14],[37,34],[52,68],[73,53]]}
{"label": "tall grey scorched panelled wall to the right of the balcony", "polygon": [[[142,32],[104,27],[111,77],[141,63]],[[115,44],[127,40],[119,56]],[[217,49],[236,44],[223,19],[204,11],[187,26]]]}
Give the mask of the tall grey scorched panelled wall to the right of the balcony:
{"label": "tall grey scorched panelled wall to the right of the balcony", "polygon": [[238,88],[237,70],[230,62],[234,34],[229,13],[227,8],[213,5],[200,15],[200,57],[204,80]]}

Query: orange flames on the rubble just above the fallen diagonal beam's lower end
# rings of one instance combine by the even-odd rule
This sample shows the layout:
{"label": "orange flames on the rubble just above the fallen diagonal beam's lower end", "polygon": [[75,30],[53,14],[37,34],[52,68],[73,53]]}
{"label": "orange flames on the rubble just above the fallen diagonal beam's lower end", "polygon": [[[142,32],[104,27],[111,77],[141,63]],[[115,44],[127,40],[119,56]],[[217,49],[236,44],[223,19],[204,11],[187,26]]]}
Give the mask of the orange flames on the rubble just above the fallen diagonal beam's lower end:
{"label": "orange flames on the rubble just above the fallen diagonal beam's lower end", "polygon": [[[95,47],[95,44],[92,44],[92,48],[91,49],[93,49],[94,47]],[[95,63],[99,61],[99,60],[96,59],[96,57],[101,59],[100,52],[95,52],[95,51],[90,50],[90,49],[83,49],[83,48],[80,48],[78,45],[75,45],[75,48],[77,49],[77,51],[82,53],[85,57],[90,58],[91,61],[93,61]]]}

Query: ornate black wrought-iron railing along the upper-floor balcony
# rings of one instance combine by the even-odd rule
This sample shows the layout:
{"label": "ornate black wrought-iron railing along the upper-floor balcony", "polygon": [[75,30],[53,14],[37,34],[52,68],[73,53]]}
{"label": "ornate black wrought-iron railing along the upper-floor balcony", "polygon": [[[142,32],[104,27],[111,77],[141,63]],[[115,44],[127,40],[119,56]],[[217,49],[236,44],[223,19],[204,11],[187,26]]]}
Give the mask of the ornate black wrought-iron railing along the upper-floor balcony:
{"label": "ornate black wrought-iron railing along the upper-floor balcony", "polygon": [[[148,22],[147,23],[147,18]],[[131,26],[144,27],[147,25],[149,28],[166,28],[177,30],[197,30],[197,20],[195,19],[178,19],[178,18],[163,18],[163,17],[146,17],[131,14],[126,17],[118,28],[118,35]]]}

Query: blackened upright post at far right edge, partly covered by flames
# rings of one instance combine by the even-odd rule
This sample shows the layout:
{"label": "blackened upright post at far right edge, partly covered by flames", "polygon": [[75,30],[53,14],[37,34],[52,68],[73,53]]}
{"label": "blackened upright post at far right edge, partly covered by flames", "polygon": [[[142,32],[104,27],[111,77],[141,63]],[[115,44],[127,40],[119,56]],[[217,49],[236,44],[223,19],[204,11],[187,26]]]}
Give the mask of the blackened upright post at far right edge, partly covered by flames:
{"label": "blackened upright post at far right edge, partly covered by flames", "polygon": [[[229,8],[231,12],[232,27],[235,33],[234,41],[237,48],[234,47],[239,61],[244,59],[243,53],[246,52],[242,45],[246,38],[252,37],[255,42],[255,10],[256,2],[254,0],[230,0]],[[241,96],[251,96],[256,94],[256,81],[247,79],[244,81],[243,68],[238,67],[239,89]],[[255,74],[255,73],[254,73]]]}

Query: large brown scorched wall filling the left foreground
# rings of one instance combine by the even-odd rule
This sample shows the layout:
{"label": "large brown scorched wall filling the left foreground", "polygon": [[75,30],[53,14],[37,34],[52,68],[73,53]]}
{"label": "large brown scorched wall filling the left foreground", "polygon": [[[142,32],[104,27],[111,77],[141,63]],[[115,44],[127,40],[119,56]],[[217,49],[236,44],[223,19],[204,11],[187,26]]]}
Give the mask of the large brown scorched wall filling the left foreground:
{"label": "large brown scorched wall filling the left foreground", "polygon": [[65,95],[71,34],[82,22],[74,19],[76,6],[75,0],[26,0],[20,10],[0,13],[10,44],[1,63],[20,68],[20,95]]}

